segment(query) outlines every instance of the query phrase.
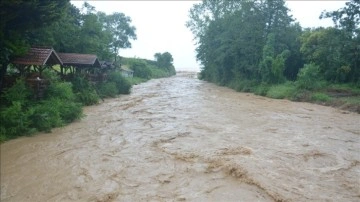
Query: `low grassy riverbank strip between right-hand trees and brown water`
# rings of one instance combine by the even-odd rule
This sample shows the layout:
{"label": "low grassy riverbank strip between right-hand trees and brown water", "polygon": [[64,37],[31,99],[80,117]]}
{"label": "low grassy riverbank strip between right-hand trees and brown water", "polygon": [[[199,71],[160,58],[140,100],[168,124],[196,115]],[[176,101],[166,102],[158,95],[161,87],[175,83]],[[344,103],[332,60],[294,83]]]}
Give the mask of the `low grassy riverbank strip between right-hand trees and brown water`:
{"label": "low grassy riverbank strip between right-hand trees and brown water", "polygon": [[350,84],[323,83],[316,89],[299,88],[295,82],[257,84],[251,81],[232,82],[227,87],[238,92],[250,92],[274,99],[308,102],[360,114],[360,88]]}

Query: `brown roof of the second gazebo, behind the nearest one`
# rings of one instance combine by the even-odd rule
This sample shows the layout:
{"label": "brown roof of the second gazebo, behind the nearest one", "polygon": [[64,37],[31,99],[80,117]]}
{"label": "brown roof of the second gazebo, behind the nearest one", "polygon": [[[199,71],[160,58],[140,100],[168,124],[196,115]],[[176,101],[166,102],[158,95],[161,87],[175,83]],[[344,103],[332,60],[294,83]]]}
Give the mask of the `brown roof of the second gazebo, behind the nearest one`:
{"label": "brown roof of the second gazebo, behind the nearest one", "polygon": [[58,55],[64,65],[101,67],[97,56],[93,54],[58,53]]}

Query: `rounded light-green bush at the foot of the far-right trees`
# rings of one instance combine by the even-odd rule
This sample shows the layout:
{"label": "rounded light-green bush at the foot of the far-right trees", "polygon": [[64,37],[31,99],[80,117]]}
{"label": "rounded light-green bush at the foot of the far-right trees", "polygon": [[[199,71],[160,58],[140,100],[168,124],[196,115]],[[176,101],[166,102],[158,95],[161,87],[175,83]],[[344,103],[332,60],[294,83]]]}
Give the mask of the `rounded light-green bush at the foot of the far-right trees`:
{"label": "rounded light-green bush at the foot of the far-right trees", "polygon": [[321,78],[319,66],[305,64],[298,73],[296,86],[300,89],[316,90],[324,86],[325,81]]}

